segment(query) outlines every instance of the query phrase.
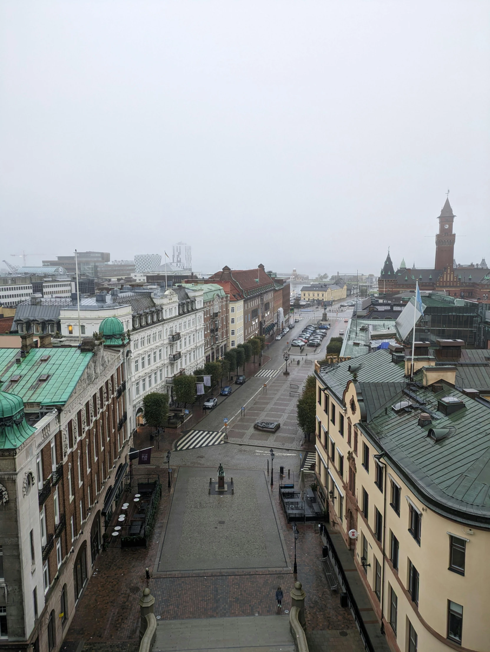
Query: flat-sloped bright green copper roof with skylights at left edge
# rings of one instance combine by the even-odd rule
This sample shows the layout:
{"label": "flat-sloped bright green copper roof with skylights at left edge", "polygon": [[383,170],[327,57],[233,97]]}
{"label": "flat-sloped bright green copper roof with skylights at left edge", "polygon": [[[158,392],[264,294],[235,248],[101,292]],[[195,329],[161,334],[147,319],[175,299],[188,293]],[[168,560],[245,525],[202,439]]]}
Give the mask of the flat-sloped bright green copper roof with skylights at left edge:
{"label": "flat-sloped bright green copper roof with skylights at left edge", "polygon": [[93,353],[80,349],[31,349],[20,363],[20,349],[0,348],[0,387],[24,403],[64,405],[82,377]]}

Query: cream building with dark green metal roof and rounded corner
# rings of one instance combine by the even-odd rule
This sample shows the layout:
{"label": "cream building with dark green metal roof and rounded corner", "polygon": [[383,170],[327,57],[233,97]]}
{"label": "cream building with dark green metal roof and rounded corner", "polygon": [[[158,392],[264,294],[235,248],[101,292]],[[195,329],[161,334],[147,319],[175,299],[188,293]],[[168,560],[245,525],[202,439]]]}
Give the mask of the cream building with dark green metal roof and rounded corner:
{"label": "cream building with dark green metal roof and rounded corner", "polygon": [[484,652],[490,406],[439,369],[408,390],[383,349],[316,363],[316,476],[391,649]]}

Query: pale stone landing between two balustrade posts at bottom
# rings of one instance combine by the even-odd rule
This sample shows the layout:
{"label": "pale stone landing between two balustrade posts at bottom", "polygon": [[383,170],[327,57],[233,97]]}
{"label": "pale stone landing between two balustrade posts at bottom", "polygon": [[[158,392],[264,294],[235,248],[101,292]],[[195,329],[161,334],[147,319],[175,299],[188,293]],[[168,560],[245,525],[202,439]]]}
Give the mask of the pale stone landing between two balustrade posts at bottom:
{"label": "pale stone landing between two balustrade posts at bottom", "polygon": [[220,649],[222,652],[294,651],[289,618],[252,616],[159,621],[153,652]]}

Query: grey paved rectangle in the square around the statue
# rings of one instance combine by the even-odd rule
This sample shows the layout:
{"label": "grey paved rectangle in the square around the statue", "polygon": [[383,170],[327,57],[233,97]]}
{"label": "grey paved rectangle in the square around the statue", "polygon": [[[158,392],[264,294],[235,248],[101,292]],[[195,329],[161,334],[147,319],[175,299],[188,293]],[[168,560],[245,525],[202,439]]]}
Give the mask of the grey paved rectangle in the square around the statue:
{"label": "grey paved rectangle in the square around the statue", "polygon": [[233,496],[208,495],[216,469],[179,469],[159,572],[289,567],[264,473],[226,473]]}

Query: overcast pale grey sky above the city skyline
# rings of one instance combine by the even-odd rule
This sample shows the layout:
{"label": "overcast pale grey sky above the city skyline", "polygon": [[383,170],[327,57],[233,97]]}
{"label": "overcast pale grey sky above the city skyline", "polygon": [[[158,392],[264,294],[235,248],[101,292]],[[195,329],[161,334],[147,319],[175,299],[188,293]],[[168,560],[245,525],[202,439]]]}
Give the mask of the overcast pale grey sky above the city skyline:
{"label": "overcast pale grey sky above the city skyline", "polygon": [[457,261],[490,264],[489,19],[487,0],[4,0],[0,260],[182,240],[196,271],[377,274],[389,245],[432,267],[449,188]]}

